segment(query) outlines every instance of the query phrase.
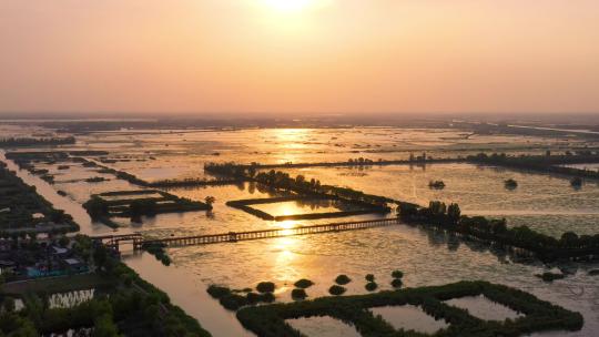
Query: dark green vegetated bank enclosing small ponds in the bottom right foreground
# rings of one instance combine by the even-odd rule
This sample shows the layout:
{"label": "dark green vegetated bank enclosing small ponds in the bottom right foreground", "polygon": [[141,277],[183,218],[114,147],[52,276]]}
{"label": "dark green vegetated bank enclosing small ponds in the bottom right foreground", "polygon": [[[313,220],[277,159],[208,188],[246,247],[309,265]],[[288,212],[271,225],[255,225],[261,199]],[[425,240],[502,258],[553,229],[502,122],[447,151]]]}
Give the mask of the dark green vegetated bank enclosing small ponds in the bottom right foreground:
{"label": "dark green vegetated bank enclosing small ponds in the bottom right foreground", "polygon": [[[446,304],[453,298],[475,298],[483,295],[514,312],[527,315],[511,321],[488,321]],[[286,321],[316,315],[331,316],[352,324],[365,336],[394,336],[398,333],[396,326],[380,321],[372,309],[407,304],[422,307],[440,319],[450,319],[448,336],[517,336],[548,329],[577,330],[583,324],[582,316],[578,313],[551,305],[522,290],[481,280],[244,307],[236,316],[245,328],[261,337],[296,336]]]}

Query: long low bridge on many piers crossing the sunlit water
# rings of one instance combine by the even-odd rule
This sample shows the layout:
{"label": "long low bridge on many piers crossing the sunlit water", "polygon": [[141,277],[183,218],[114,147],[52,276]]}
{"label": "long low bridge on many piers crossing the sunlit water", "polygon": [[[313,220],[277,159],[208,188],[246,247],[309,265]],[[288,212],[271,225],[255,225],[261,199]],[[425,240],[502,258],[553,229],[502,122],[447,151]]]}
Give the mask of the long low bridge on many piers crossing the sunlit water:
{"label": "long low bridge on many piers crossing the sunlit water", "polygon": [[219,243],[236,243],[240,241],[262,239],[272,237],[284,237],[307,234],[322,234],[345,231],[367,229],[375,227],[386,227],[399,224],[398,218],[380,218],[359,222],[328,223],[321,225],[297,226],[293,228],[272,228],[247,232],[229,232],[221,234],[194,235],[194,236],[173,236],[165,238],[143,238],[140,233],[125,235],[105,235],[92,237],[108,246],[119,249],[121,243],[131,243],[134,251],[142,249],[144,245],[163,245],[166,247],[184,247],[195,245],[207,245]]}

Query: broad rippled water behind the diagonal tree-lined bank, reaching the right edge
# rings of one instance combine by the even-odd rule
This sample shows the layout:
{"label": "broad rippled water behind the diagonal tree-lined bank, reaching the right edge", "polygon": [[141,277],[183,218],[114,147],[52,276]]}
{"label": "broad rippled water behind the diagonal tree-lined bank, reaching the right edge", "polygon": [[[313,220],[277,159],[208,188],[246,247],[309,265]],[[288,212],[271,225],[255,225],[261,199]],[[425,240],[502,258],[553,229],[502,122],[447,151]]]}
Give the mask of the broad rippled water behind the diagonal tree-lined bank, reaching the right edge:
{"label": "broad rippled water behind the diagonal tree-lined bank, reaching the right edge", "polygon": [[[508,225],[527,225],[548,235],[599,233],[599,185],[591,181],[572,188],[567,177],[473,164],[286,171],[420,205],[432,200],[458,203],[464,214],[505,217]],[[507,190],[508,178],[516,180],[518,187]],[[428,183],[438,180],[446,187],[429,188]]]}

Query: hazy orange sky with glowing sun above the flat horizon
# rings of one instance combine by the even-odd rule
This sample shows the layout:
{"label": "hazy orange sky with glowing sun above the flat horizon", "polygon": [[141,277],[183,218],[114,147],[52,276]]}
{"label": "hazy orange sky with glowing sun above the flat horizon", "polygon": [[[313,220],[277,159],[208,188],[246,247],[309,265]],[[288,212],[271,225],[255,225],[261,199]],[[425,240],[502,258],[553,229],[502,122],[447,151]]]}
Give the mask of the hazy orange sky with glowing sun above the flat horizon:
{"label": "hazy orange sky with glowing sun above the flat horizon", "polygon": [[0,0],[19,111],[599,112],[599,1]]}

